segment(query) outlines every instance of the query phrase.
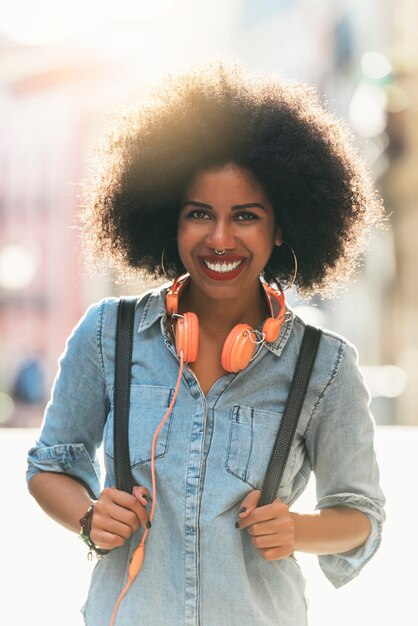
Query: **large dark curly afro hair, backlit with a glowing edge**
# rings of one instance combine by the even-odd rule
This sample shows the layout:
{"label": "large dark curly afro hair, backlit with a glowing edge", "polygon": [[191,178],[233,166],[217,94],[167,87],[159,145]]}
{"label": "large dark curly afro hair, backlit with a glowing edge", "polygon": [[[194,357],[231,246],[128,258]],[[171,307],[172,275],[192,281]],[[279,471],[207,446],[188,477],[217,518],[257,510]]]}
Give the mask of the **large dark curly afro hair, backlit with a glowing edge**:
{"label": "large dark curly afro hair, backlit with a glowing edge", "polygon": [[[382,204],[350,134],[307,85],[224,64],[168,77],[125,113],[84,186],[84,238],[122,270],[182,273],[175,244],[193,176],[233,163],[258,179],[298,259],[303,295],[329,295],[355,268]],[[161,265],[165,249],[164,268]],[[294,260],[276,247],[267,271],[288,281]]]}

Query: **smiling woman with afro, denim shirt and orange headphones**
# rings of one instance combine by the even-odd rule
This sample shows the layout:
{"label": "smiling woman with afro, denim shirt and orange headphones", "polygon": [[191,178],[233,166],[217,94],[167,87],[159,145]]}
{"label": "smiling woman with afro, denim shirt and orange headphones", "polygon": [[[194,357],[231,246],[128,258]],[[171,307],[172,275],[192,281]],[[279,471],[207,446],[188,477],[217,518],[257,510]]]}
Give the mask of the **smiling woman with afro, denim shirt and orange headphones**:
{"label": "smiling woman with afro, denim shirt and orange headphones", "polygon": [[[209,68],[169,80],[124,118],[87,186],[85,233],[125,271],[186,276],[136,305],[133,493],[114,478],[115,299],[91,307],[71,335],[29,453],[39,504],[72,531],[81,523],[99,556],[109,551],[86,624],[302,626],[294,552],[317,554],[336,587],[373,556],[384,498],[368,393],[342,337],[323,331],[277,498],[257,504],[304,331],[278,281],[330,293],[380,217],[342,125],[305,86]],[[190,342],[198,336],[194,354],[179,340],[185,324]],[[248,364],[231,358],[240,324],[257,344]],[[297,514],[311,470],[316,511]],[[129,580],[143,536],[142,569]]]}

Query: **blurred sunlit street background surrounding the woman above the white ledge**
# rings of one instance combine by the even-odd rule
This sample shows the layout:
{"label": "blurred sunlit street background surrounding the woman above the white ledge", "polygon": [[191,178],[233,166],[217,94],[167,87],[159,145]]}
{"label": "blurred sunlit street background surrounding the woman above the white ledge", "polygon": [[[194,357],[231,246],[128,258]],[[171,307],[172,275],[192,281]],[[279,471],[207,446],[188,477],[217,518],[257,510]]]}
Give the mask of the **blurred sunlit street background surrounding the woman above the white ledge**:
{"label": "blurred sunlit street background surrounding the woman above the white ledge", "polygon": [[[349,290],[333,300],[299,302],[293,294],[291,300],[302,316],[356,344],[378,446],[389,463],[390,441],[397,441],[399,479],[411,478],[402,449],[413,454],[411,442],[418,443],[412,428],[418,425],[417,30],[415,0],[2,4],[0,438],[3,433],[6,454],[18,442],[23,467],[57,358],[86,307],[145,288],[140,280],[121,286],[111,275],[91,277],[82,264],[77,212],[92,146],[141,84],[226,55],[314,85],[350,124],[384,198],[388,228],[376,233]],[[401,432],[409,448],[402,448]]]}

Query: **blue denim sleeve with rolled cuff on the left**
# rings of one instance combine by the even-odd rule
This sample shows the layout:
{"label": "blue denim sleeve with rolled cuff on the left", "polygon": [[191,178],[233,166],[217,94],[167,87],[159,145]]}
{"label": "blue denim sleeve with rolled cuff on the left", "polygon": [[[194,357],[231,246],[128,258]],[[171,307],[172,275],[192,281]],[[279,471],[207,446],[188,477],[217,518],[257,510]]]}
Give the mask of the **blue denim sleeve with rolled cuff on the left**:
{"label": "blue denim sleeve with rolled cuff on the left", "polygon": [[28,482],[38,472],[67,474],[93,498],[100,492],[97,449],[108,406],[101,350],[105,304],[92,306],[68,338],[26,474]]}

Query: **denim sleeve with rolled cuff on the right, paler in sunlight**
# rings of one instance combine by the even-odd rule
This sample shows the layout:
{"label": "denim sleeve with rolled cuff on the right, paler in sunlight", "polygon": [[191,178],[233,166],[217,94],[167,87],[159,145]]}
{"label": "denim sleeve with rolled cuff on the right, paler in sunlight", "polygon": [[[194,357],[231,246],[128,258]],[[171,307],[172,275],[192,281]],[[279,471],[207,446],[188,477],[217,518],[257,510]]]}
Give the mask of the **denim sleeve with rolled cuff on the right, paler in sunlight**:
{"label": "denim sleeve with rolled cuff on the right, paler in sunlight", "polygon": [[335,587],[357,576],[375,554],[385,519],[370,396],[357,361],[355,348],[342,342],[333,376],[318,399],[306,437],[316,478],[316,508],[354,508],[365,513],[371,524],[362,546],[318,557],[322,571]]}

